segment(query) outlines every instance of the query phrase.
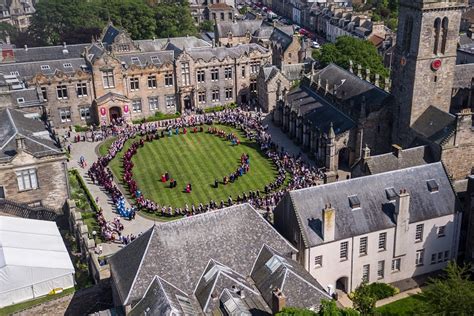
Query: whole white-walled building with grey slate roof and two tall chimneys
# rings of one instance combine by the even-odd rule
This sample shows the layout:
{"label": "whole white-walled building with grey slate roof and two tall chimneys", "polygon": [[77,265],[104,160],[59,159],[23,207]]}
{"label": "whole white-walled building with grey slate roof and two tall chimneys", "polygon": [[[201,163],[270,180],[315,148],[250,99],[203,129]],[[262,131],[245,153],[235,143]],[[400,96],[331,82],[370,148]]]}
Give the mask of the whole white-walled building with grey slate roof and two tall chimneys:
{"label": "whole white-walled building with grey slate roof and two tall chimneys", "polygon": [[291,191],[274,210],[297,261],[330,293],[443,269],[461,219],[441,162]]}

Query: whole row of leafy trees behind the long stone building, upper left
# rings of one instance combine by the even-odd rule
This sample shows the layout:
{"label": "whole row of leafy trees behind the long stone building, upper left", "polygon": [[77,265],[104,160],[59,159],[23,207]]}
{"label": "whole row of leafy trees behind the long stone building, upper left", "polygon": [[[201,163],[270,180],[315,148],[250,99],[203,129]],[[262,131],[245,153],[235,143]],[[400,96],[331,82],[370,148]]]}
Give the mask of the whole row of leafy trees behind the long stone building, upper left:
{"label": "whole row of leafy trees behind the long stone building, upper left", "polygon": [[183,0],[42,0],[28,30],[31,45],[87,43],[108,21],[133,39],[194,35],[189,5]]}

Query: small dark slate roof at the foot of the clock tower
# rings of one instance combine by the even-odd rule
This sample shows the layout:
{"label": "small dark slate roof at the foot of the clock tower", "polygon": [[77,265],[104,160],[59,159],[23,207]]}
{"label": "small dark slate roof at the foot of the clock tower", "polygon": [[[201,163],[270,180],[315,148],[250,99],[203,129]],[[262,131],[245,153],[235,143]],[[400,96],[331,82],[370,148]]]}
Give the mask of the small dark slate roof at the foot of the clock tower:
{"label": "small dark slate roof at the foot of the clock tower", "polygon": [[412,128],[426,139],[441,143],[451,135],[455,128],[456,117],[437,107],[428,107],[413,123]]}

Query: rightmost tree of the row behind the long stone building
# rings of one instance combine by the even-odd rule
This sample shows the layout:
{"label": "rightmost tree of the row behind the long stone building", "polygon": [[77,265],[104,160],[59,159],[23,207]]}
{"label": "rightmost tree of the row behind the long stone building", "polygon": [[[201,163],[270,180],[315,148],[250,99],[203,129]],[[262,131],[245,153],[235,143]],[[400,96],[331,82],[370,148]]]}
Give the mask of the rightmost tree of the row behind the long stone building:
{"label": "rightmost tree of the row behind the long stone building", "polygon": [[158,37],[186,36],[197,33],[187,1],[165,0],[157,4],[154,11]]}

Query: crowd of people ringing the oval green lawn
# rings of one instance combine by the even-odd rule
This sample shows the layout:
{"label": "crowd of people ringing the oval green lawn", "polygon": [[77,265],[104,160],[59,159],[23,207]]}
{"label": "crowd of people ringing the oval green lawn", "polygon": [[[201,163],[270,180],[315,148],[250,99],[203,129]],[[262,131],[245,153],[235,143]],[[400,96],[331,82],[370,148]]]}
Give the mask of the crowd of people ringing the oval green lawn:
{"label": "crowd of people ringing the oval green lawn", "polygon": [[[136,154],[138,148],[142,147],[147,141],[179,134],[180,130],[182,130],[184,134],[188,131],[192,131],[193,133],[202,132],[202,125],[204,124],[210,126],[208,128],[209,133],[225,137],[233,144],[235,143],[235,145],[240,143],[236,135],[216,129],[212,125],[223,124],[241,130],[247,139],[255,141],[260,146],[262,152],[273,161],[278,170],[277,177],[265,185],[261,191],[244,192],[237,197],[229,196],[227,201],[221,200],[220,202],[216,202],[210,200],[204,204],[185,205],[184,207],[160,205],[159,201],[147,199],[141,193],[137,194],[140,191],[133,179],[133,162],[131,158]],[[323,169],[306,164],[300,155],[291,155],[286,152],[284,148],[274,143],[271,135],[267,132],[267,126],[262,124],[262,116],[259,113],[249,113],[239,109],[225,110],[217,113],[183,116],[177,119],[143,123],[140,125],[113,126],[101,132],[106,136],[113,135],[116,139],[109,147],[107,154],[92,164],[88,175],[93,182],[97,182],[109,193],[114,203],[122,199],[123,195],[113,182],[112,172],[108,168],[108,164],[123,150],[127,140],[138,136],[137,140],[130,145],[123,155],[123,181],[131,195],[135,196],[136,204],[134,207],[136,211],[145,210],[162,216],[190,216],[230,206],[234,203],[247,202],[258,209],[266,210],[270,213],[271,209],[278,204],[285,192],[317,185],[322,182],[324,177]],[[247,154],[243,154],[241,164],[236,172],[225,176],[223,183],[226,183],[226,180],[227,183],[231,182],[232,176],[235,180],[236,176],[247,173],[249,168],[250,157]],[[166,176],[164,180],[168,181]],[[175,180],[173,179],[173,181]],[[172,181],[170,181],[170,185],[172,185]],[[218,179],[215,180],[214,185],[218,187]],[[190,183],[185,187],[185,190],[188,189],[189,192],[192,190]]]}

